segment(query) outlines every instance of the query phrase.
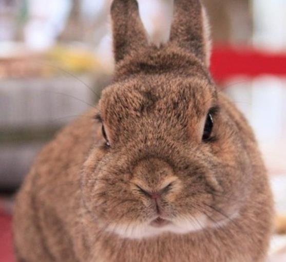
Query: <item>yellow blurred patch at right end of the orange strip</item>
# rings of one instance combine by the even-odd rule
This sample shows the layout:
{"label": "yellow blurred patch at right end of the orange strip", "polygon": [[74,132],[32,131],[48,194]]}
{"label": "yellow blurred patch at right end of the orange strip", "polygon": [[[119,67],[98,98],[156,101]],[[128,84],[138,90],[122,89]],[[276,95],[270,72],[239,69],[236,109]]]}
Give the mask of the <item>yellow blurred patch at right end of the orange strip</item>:
{"label": "yellow blurred patch at right end of the orange strip", "polygon": [[60,69],[75,73],[90,72],[100,66],[92,52],[79,47],[56,46],[47,52],[47,59]]}

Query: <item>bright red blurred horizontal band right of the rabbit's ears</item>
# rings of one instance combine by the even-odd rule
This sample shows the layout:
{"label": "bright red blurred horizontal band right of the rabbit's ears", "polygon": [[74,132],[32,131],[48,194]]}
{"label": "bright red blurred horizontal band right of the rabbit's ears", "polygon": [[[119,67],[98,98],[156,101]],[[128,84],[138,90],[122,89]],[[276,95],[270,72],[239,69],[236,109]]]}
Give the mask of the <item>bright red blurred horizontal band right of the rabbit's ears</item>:
{"label": "bright red blurred horizontal band right of the rabbit's ears", "polygon": [[274,53],[250,47],[215,46],[211,72],[216,82],[240,75],[250,78],[263,74],[286,77],[286,51]]}

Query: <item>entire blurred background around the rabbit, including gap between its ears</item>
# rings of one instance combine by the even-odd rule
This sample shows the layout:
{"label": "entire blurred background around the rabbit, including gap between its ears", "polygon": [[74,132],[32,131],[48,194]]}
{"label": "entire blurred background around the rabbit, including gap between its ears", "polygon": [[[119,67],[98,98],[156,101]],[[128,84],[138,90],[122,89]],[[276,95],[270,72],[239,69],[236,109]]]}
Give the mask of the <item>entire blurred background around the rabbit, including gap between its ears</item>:
{"label": "entire blurred background around the rabbit, including gap between its ears", "polygon": [[[285,215],[286,1],[202,1],[212,28],[214,79],[253,126],[277,212]],[[151,39],[166,41],[172,1],[138,2]],[[3,209],[9,210],[7,196],[11,199],[18,189],[43,144],[95,104],[110,82],[110,4],[111,0],[0,0]],[[9,215],[2,217],[0,227],[9,225]],[[7,241],[1,242],[9,238],[6,233],[0,230],[0,246],[9,249]],[[275,236],[272,252],[283,245],[285,237]],[[1,254],[0,250],[0,261],[9,261],[1,260]]]}

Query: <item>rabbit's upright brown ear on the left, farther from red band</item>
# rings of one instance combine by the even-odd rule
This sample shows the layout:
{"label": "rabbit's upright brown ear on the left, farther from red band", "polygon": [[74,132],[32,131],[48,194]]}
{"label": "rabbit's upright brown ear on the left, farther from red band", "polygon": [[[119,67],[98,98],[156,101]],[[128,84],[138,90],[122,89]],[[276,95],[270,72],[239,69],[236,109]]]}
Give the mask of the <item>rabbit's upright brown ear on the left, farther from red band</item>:
{"label": "rabbit's upright brown ear on the left, farther from red band", "polygon": [[147,46],[136,0],[114,0],[111,6],[113,51],[116,63],[133,50]]}

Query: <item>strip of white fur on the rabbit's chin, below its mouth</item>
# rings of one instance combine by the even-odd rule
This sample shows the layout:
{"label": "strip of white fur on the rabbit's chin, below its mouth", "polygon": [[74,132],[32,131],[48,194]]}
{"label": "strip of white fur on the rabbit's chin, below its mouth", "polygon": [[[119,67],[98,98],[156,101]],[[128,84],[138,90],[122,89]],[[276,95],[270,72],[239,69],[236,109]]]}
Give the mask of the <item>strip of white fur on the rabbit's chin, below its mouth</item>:
{"label": "strip of white fur on the rabbit's chin, below its mouth", "polygon": [[164,227],[152,227],[149,223],[111,224],[107,231],[116,233],[123,238],[141,239],[156,236],[162,233],[187,234],[207,228],[207,217],[199,215],[193,218],[179,217],[173,223]]}

